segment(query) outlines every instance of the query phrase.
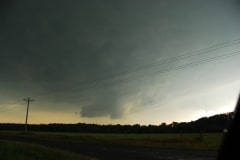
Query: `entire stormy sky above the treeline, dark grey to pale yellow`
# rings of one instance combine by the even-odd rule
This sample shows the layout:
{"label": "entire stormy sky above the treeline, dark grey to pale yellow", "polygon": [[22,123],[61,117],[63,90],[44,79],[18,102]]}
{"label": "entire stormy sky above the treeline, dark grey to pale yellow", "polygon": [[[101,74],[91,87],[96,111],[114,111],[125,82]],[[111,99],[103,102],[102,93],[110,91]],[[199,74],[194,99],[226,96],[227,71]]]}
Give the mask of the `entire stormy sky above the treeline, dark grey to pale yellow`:
{"label": "entire stormy sky above the treeline, dark grey to pale yellow", "polygon": [[238,0],[22,0],[0,10],[0,122],[161,124],[234,110]]}

